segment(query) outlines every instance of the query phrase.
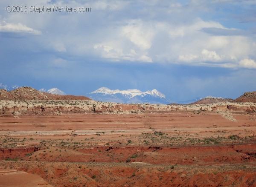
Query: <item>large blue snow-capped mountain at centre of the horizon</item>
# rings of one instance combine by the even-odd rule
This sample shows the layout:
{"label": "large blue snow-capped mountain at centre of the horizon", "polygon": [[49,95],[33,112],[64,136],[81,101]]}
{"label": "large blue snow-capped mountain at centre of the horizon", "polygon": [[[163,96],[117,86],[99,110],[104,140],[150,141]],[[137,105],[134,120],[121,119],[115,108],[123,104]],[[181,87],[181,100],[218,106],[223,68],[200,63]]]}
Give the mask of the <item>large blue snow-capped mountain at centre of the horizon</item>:
{"label": "large blue snow-capped mountain at centre of the horizon", "polygon": [[150,103],[150,104],[169,104],[171,101],[161,92],[153,89],[142,92],[139,89],[111,90],[107,87],[101,87],[87,94],[96,101],[116,102],[116,103]]}

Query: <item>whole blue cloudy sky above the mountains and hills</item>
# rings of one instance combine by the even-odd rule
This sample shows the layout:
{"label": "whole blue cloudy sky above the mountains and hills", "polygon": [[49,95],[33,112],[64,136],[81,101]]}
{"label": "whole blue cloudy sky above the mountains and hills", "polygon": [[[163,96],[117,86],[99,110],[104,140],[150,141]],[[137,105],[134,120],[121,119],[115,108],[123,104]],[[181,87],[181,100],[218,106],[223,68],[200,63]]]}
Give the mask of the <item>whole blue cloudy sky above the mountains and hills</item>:
{"label": "whole blue cloudy sky above the mountains and hills", "polygon": [[256,91],[255,10],[256,0],[1,0],[0,87],[235,99]]}

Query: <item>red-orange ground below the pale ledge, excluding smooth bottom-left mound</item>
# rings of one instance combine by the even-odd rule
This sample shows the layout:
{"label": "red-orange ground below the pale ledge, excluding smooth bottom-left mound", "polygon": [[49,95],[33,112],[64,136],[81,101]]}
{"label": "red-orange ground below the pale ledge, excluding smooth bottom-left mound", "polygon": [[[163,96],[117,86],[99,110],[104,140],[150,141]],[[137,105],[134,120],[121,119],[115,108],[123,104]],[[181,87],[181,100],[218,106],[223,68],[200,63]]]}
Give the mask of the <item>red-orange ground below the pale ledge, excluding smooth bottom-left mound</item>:
{"label": "red-orange ground below the pale ledge, excluding smooth bottom-left mound", "polygon": [[249,187],[255,132],[255,113],[2,115],[0,167],[52,186]]}

